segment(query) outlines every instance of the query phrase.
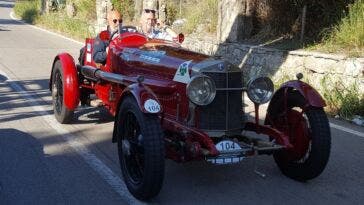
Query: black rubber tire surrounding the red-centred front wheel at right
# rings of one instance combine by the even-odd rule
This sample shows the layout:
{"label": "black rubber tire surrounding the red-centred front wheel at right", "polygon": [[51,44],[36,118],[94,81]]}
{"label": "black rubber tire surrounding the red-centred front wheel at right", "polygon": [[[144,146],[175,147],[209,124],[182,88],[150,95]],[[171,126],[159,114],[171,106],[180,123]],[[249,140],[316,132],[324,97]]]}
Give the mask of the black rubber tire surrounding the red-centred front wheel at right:
{"label": "black rubber tire surrounding the red-centred front wheel at right", "polygon": [[[291,92],[288,94],[288,109],[293,110],[297,107],[301,108],[303,116],[305,116],[310,141],[306,154],[300,159],[291,160],[287,160],[287,158],[291,158],[290,155],[292,155],[292,152],[287,150],[276,152],[273,155],[281,172],[287,177],[297,181],[307,181],[319,176],[326,167],[331,148],[330,126],[324,110],[317,107],[307,107],[306,109],[303,109],[305,104],[306,101],[300,93]],[[277,117],[282,117],[282,115],[284,115],[283,105],[283,99],[279,99],[273,106],[270,106],[268,113],[270,113],[270,118],[273,119],[273,121],[277,119]],[[287,124],[291,126],[290,123]],[[292,127],[289,127],[289,130],[290,128]],[[294,130],[295,128],[292,129]],[[289,137],[290,142],[292,143],[292,139],[294,139],[295,135],[292,135],[292,132],[290,133]]]}

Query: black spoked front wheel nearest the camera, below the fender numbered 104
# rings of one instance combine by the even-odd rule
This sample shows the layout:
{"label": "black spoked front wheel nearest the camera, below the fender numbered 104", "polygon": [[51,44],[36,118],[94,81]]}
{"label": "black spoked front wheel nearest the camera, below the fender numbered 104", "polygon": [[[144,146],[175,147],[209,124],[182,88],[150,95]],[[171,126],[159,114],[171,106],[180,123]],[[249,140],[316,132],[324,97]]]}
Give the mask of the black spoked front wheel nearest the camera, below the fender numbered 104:
{"label": "black spoked front wheel nearest the camera, below the fender numbered 104", "polygon": [[160,192],[164,178],[165,148],[159,117],[142,113],[129,96],[121,104],[116,123],[125,184],[135,198],[148,200]]}

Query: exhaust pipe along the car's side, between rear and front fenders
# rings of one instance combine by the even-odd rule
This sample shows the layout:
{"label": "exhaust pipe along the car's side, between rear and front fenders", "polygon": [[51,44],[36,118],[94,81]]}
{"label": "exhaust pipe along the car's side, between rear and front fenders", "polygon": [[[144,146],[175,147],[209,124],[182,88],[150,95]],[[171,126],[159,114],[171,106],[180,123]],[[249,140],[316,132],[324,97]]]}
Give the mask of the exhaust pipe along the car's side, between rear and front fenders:
{"label": "exhaust pipe along the car's side, between rear and front fenders", "polygon": [[125,77],[120,74],[104,72],[92,66],[82,66],[80,70],[82,75],[93,81],[106,80],[113,83],[125,84]]}

